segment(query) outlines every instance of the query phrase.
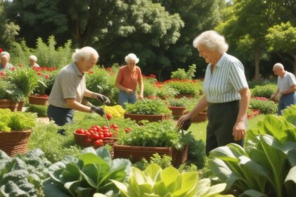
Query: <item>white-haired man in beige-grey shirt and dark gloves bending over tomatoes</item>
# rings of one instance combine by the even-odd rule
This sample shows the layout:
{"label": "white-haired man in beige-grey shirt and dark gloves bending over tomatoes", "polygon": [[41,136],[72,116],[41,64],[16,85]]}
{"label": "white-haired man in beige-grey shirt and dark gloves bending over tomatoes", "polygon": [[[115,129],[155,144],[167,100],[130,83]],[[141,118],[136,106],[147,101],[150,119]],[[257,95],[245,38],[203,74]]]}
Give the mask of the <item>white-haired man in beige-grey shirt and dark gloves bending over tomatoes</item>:
{"label": "white-haired man in beige-grey shirt and dark gloves bending over tomatoes", "polygon": [[[74,110],[104,115],[103,108],[85,106],[81,103],[83,96],[97,98],[105,103],[110,102],[109,98],[88,90],[85,85],[85,72],[90,71],[96,65],[98,58],[99,54],[90,46],[76,49],[73,53],[73,63],[62,68],[56,76],[49,94],[47,109],[49,120],[54,120],[56,125],[62,126],[73,122]],[[60,134],[64,132],[63,129],[58,131]]]}

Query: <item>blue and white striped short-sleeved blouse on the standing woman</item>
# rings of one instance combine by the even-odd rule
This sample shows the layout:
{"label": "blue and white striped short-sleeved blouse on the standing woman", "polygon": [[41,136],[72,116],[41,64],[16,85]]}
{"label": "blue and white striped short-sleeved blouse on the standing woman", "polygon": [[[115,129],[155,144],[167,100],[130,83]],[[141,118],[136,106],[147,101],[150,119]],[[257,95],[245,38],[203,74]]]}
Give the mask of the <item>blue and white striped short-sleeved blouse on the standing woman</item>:
{"label": "blue and white striped short-sleeved blouse on the standing woman", "polygon": [[209,103],[240,100],[239,91],[247,87],[244,66],[234,56],[223,53],[213,73],[210,63],[206,68],[203,91]]}

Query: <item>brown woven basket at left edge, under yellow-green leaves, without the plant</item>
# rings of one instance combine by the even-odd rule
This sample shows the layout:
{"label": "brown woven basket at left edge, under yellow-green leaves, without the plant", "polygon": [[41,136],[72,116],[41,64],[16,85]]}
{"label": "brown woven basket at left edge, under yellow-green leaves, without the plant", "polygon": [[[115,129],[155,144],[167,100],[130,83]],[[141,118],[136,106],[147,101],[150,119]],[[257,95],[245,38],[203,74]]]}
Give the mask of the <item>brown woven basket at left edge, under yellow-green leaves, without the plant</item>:
{"label": "brown woven basket at left edge, under yellow-green leaves, without the plant", "polygon": [[11,157],[26,153],[30,134],[31,130],[0,132],[0,149]]}

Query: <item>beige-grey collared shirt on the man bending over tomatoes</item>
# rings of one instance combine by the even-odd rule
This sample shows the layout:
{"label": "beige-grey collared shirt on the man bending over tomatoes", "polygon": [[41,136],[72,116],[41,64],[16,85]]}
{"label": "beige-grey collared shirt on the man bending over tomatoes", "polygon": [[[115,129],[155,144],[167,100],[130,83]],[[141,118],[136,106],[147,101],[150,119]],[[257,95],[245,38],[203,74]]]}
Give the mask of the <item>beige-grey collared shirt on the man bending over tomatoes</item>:
{"label": "beige-grey collared shirt on the man bending over tomatoes", "polygon": [[66,65],[56,76],[49,95],[49,104],[59,108],[69,108],[66,98],[75,98],[81,103],[85,89],[85,75],[78,70],[75,63]]}

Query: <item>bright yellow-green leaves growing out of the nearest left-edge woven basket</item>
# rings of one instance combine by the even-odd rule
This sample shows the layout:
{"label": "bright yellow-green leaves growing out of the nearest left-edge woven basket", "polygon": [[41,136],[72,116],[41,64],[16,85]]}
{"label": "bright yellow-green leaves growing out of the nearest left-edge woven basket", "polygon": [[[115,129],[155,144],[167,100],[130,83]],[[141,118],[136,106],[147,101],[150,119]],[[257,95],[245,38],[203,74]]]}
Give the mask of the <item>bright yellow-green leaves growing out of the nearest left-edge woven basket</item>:
{"label": "bright yellow-green leaves growing out of the nearest left-edge woven basket", "polygon": [[0,131],[24,131],[35,126],[36,115],[33,113],[11,112],[9,109],[0,109]]}

